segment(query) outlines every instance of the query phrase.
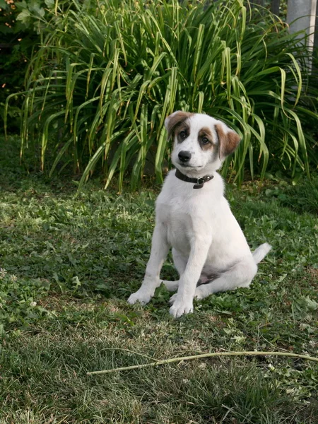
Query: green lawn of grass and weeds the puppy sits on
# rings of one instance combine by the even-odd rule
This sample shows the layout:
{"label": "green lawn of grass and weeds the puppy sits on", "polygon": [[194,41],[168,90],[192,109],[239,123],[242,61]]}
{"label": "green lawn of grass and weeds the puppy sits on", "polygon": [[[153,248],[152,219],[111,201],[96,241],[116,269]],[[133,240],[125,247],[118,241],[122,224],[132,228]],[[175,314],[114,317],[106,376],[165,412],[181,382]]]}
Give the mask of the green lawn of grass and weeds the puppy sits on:
{"label": "green lawn of grass and weeds the puppy sits on", "polygon": [[[13,140],[11,140],[13,143]],[[13,143],[14,145],[14,143]],[[160,187],[81,192],[0,141],[0,423],[318,423],[318,365],[276,356],[209,358],[88,376],[197,353],[318,356],[318,179],[230,186],[252,249],[273,249],[249,289],[172,319],[169,293],[126,299],[143,278]],[[163,278],[175,278],[171,260]]]}

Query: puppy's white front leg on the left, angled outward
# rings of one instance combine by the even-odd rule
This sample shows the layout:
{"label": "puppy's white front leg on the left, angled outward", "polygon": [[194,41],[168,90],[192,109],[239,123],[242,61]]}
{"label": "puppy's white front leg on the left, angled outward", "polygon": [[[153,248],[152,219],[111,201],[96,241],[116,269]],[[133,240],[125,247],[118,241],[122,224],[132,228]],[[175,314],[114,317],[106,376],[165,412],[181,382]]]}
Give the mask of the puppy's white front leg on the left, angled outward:
{"label": "puppy's white front leg on the left, angled outward", "polygon": [[149,258],[146,273],[143,278],[143,283],[136,293],[129,296],[128,302],[134,305],[140,302],[141,305],[146,305],[153,295],[155,289],[160,285],[160,270],[163,262],[169,252],[169,245],[167,244],[167,228],[163,223],[156,223],[155,230],[153,230],[153,240],[151,243],[151,256]]}

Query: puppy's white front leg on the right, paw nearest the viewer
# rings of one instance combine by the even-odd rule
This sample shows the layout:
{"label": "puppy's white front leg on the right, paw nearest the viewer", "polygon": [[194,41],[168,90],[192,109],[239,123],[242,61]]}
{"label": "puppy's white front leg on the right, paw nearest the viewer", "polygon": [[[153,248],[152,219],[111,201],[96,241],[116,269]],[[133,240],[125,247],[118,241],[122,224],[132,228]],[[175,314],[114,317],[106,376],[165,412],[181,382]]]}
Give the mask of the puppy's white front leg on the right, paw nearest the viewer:
{"label": "puppy's white front leg on the right, paw nearest the viewer", "polygon": [[192,242],[186,269],[179,279],[178,291],[170,300],[173,302],[172,307],[170,307],[170,314],[175,318],[193,311],[193,298],[196,290],[196,283],[201,276],[201,271],[206,262],[210,246],[211,240],[209,237],[195,237]]}

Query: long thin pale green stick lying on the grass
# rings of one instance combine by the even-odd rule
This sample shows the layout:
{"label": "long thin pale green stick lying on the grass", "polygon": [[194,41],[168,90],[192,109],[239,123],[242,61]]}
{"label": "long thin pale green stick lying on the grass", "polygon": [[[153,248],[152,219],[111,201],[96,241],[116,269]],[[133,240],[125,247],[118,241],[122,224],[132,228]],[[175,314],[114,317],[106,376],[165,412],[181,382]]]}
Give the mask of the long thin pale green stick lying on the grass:
{"label": "long thin pale green stick lying on the grass", "polygon": [[87,375],[96,375],[96,374],[100,375],[100,374],[108,374],[109,372],[115,372],[115,371],[136,370],[136,369],[139,369],[139,368],[156,367],[157,365],[170,364],[170,363],[179,362],[179,361],[182,361],[182,360],[211,358],[213,356],[256,356],[256,355],[290,356],[292,358],[301,358],[301,359],[313,360],[315,362],[318,362],[318,358],[314,358],[313,356],[298,355],[297,353],[289,353],[289,352],[259,352],[259,351],[217,352],[217,353],[202,353],[201,355],[181,356],[179,358],[169,358],[169,359],[164,359],[164,360],[157,360],[156,362],[153,362],[153,363],[131,365],[130,367],[112,368],[112,370],[92,371],[92,372],[88,372]]}

